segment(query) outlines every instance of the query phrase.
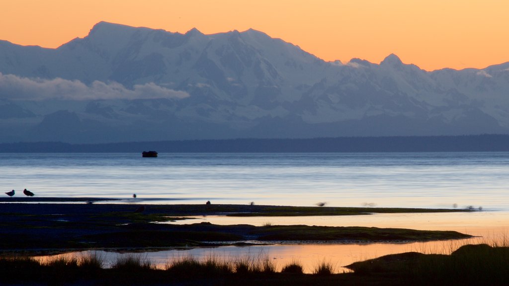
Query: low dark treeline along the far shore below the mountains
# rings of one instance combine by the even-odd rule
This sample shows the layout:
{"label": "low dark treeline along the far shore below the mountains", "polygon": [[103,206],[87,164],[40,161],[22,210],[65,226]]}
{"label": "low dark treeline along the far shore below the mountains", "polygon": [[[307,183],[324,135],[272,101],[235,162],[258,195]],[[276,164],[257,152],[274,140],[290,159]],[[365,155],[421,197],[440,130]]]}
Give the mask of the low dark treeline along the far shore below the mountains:
{"label": "low dark treeline along the far shore below the mountains", "polygon": [[141,152],[469,152],[509,151],[509,135],[336,137],[312,139],[221,139],[67,144],[18,142],[0,144],[2,153]]}

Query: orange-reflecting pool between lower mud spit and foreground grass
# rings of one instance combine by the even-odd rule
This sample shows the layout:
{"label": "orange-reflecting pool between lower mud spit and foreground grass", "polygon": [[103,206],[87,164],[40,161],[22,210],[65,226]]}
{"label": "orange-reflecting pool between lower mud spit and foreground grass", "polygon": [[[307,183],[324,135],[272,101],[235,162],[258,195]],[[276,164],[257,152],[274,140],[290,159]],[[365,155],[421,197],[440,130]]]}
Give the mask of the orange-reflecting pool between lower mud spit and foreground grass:
{"label": "orange-reflecting pool between lower mud spit and foreground grass", "polygon": [[[143,255],[159,269],[165,269],[175,260],[192,256],[197,260],[205,260],[211,256],[218,260],[235,262],[239,260],[269,259],[280,271],[285,265],[298,262],[305,273],[312,273],[321,262],[329,262],[334,266],[336,273],[348,272],[343,266],[358,261],[377,258],[386,254],[395,254],[408,251],[422,253],[450,254],[461,245],[480,243],[482,241],[458,240],[416,243],[374,243],[374,244],[297,244],[297,245],[258,245],[258,246],[223,246],[214,248],[172,249],[164,251],[136,253]],[[51,261],[59,256],[67,255],[80,258],[91,253],[101,255],[105,259],[105,267],[111,267],[116,260],[126,253],[106,252],[101,250],[70,252],[51,256],[36,256],[41,261]]]}

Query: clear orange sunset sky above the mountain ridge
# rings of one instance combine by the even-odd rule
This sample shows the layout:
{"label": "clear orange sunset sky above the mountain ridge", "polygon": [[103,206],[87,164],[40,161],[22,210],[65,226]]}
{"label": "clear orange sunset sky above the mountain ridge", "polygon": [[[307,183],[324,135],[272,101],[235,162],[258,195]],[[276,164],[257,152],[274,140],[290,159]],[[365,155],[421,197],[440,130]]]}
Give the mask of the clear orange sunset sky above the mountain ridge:
{"label": "clear orange sunset sky above the mountain ridge", "polygon": [[0,39],[58,47],[102,20],[181,33],[254,28],[327,61],[395,53],[426,70],[484,68],[509,61],[508,12],[507,0],[2,0]]}

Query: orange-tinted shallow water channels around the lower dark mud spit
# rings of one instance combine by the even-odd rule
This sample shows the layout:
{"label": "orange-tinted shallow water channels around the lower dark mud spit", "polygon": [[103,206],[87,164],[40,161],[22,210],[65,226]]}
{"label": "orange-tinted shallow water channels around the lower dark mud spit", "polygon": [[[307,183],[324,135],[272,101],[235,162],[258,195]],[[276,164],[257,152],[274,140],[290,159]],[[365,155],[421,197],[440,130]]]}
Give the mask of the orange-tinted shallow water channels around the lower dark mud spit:
{"label": "orange-tinted shallow water channels around the lower dark mud spit", "polygon": [[[335,272],[348,271],[343,266],[354,262],[377,258],[386,254],[395,254],[408,251],[422,253],[449,254],[464,244],[499,243],[507,245],[507,230],[509,230],[509,212],[507,211],[479,211],[471,213],[399,213],[399,214],[373,214],[357,216],[305,216],[305,217],[229,217],[206,216],[189,217],[170,223],[200,223],[213,224],[252,224],[252,225],[323,225],[323,226],[374,226],[413,228],[417,230],[447,230],[458,231],[476,236],[472,239],[431,241],[431,242],[388,242],[388,243],[326,243],[313,242],[289,244],[279,242],[273,245],[254,246],[221,246],[203,248],[184,248],[151,252],[111,252],[90,250],[70,252],[59,255],[82,256],[96,252],[110,267],[121,255],[140,255],[159,268],[165,268],[172,261],[192,256],[197,260],[204,260],[213,256],[219,260],[265,260],[274,263],[279,271],[292,262],[299,262],[304,272],[311,273],[315,267],[322,263],[331,263]],[[54,259],[52,256],[37,256],[40,260]]]}

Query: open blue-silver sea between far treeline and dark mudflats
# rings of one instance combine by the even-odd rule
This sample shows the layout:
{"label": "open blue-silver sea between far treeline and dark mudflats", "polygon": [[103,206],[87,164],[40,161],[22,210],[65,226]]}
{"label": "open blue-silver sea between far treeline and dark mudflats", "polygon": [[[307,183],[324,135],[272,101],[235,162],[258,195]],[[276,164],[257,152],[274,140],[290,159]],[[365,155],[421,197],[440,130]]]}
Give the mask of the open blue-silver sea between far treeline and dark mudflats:
{"label": "open blue-silver sea between far treeline and dark mudflats", "polygon": [[508,173],[509,153],[0,154],[5,191],[164,204],[506,211]]}

